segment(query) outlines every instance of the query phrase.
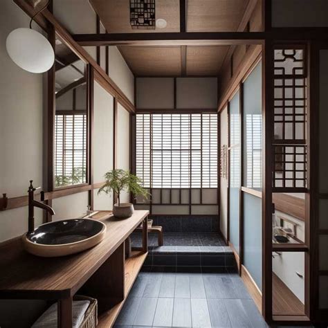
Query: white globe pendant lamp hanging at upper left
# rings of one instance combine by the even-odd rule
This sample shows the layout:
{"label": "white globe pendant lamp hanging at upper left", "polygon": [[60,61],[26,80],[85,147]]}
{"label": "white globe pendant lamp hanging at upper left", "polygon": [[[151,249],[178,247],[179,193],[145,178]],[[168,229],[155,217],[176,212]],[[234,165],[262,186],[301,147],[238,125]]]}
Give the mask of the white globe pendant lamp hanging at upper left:
{"label": "white globe pendant lamp hanging at upper left", "polygon": [[[46,6],[48,3],[49,1]],[[46,37],[32,29],[31,24],[35,15],[30,21],[30,28],[17,28],[9,33],[6,48],[9,57],[21,69],[30,73],[44,73],[53,66],[55,53]]]}

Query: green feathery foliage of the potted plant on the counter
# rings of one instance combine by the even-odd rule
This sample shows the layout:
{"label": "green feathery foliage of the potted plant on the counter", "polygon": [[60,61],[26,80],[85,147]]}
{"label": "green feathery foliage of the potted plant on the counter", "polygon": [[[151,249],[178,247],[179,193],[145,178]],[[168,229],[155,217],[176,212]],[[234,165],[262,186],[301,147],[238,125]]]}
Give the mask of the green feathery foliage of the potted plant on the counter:
{"label": "green feathery foliage of the potted plant on the counter", "polygon": [[113,191],[118,197],[118,206],[120,206],[120,193],[122,190],[131,192],[134,196],[143,196],[147,197],[149,192],[145,190],[142,186],[142,181],[138,176],[131,174],[129,171],[125,170],[111,170],[104,174],[105,183],[98,190],[100,192],[109,192]]}

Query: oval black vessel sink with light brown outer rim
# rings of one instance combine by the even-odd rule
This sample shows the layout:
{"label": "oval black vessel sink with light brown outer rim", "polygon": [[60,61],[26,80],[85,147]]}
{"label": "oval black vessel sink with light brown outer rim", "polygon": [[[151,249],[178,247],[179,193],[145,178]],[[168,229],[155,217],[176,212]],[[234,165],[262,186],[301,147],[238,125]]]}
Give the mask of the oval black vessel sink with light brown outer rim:
{"label": "oval black vessel sink with light brown outer rim", "polygon": [[78,253],[100,243],[106,233],[102,221],[69,219],[37,227],[23,237],[29,253],[44,257]]}

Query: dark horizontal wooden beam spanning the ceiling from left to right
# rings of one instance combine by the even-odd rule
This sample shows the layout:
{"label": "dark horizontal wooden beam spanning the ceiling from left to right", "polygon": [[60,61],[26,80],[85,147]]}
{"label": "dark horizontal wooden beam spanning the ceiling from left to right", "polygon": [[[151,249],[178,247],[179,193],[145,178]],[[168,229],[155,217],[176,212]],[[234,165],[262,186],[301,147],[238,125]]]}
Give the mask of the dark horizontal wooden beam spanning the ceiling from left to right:
{"label": "dark horizontal wooden beam spanning the ceiling from left to right", "polygon": [[263,32],[102,33],[72,36],[80,46],[221,46],[261,44]]}

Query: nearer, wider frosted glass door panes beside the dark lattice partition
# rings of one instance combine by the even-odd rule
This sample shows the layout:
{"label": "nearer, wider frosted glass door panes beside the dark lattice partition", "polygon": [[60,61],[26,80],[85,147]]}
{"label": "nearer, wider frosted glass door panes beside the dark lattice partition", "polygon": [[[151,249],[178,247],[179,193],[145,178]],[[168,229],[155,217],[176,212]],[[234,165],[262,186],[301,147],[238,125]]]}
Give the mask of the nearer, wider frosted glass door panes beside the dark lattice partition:
{"label": "nearer, wider frosted glass door panes beside the dark lattice partition", "polygon": [[[260,190],[262,185],[262,64],[259,62],[244,82],[243,186]],[[262,201],[253,194],[244,197],[244,266],[262,288]]]}

